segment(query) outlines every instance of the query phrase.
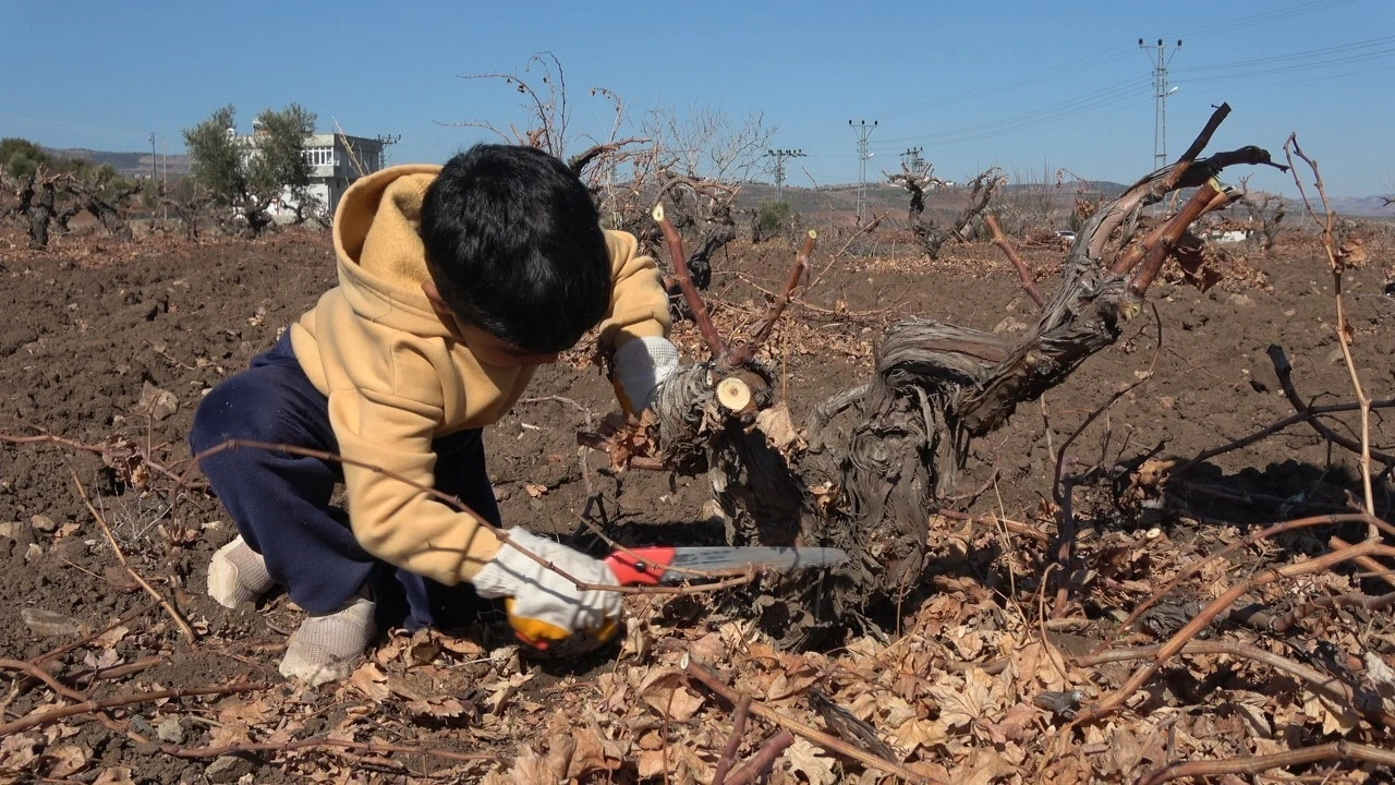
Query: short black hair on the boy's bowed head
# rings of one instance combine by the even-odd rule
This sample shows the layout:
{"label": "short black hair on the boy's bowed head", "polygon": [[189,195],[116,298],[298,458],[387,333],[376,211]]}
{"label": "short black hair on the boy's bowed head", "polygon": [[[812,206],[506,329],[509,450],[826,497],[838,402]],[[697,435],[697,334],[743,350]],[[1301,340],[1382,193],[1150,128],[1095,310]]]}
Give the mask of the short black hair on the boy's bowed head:
{"label": "short black hair on the boy's bowed head", "polygon": [[610,310],[600,214],[580,179],[530,147],[478,144],[421,203],[427,270],[466,324],[527,352],[561,352]]}

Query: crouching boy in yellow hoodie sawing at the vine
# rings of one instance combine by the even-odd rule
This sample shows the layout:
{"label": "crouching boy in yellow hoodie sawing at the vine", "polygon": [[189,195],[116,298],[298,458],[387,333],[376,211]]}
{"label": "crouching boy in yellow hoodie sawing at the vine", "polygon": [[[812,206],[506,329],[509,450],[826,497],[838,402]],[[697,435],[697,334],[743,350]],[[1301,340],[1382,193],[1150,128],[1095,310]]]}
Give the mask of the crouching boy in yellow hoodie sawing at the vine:
{"label": "crouching boy in yellow hoodie sawing at the vine", "polygon": [[[285,585],[308,617],[280,672],[311,684],[346,676],[379,624],[469,620],[474,592],[511,598],[511,622],[534,638],[614,636],[618,592],[580,591],[520,549],[614,584],[604,563],[520,528],[508,532],[519,548],[504,545],[481,525],[499,525],[499,513],[480,429],[597,324],[622,404],[646,408],[678,362],[654,261],[631,235],[600,229],[561,161],[506,145],[359,180],[333,242],[339,286],[208,394],[190,444],[197,454],[246,439],[347,461],[254,448],[205,458],[240,531],[213,556],[209,595],[234,608]],[[347,522],[329,506],[336,482]]]}

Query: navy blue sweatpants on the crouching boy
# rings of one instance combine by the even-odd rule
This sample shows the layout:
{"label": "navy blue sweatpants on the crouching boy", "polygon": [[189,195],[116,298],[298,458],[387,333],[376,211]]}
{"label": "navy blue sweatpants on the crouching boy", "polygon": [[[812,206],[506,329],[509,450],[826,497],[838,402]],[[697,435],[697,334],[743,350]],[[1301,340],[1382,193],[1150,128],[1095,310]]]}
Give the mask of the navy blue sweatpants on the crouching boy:
{"label": "navy blue sweatpants on the crouching boy", "polygon": [[[188,439],[195,454],[229,439],[339,451],[328,401],[296,360],[289,331],[250,369],[213,387]],[[435,487],[499,524],[480,432],[439,439],[435,450]],[[360,548],[345,511],[329,504],[335,483],[343,482],[335,461],[240,447],[204,458],[199,468],[243,539],[266,559],[271,577],[310,613],[336,610],[364,584],[378,603],[379,627],[453,627],[488,606],[469,584],[445,587]]]}

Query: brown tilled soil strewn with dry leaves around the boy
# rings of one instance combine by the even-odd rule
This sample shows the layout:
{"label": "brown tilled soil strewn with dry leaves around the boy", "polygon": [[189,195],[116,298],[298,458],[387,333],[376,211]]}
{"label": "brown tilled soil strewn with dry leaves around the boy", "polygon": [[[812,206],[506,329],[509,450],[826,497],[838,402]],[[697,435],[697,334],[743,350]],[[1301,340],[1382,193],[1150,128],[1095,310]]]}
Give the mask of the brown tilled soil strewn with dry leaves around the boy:
{"label": "brown tilled soil strewn with dry leaves around the boy", "polygon": [[[1373,247],[1387,253],[1388,246]],[[830,257],[833,250],[816,254],[812,288],[769,345],[795,422],[826,397],[869,379],[872,345],[898,317],[1011,335],[1035,310],[990,246],[958,247],[937,263],[908,257],[904,247],[898,257],[877,258]],[[1063,249],[1024,251],[1049,291]],[[1395,388],[1395,299],[1382,272],[1389,258],[1380,253],[1345,279],[1356,366],[1377,399]],[[718,324],[731,331],[753,321],[764,309],[760,289],[777,291],[791,258],[792,250],[778,243],[718,254],[710,292]],[[1286,352],[1306,399],[1352,399],[1334,331],[1332,279],[1313,240],[1289,237],[1268,258],[1250,253],[1246,274],[1208,292],[1175,281],[1156,286],[1149,299],[1158,323],[1145,311],[1116,346],[978,441],[956,508],[989,514],[990,522],[935,518],[926,589],[908,599],[901,637],[893,630],[850,637],[840,651],[785,652],[742,622],[735,605],[749,602],[748,595],[643,598],[632,601],[631,638],[600,661],[520,659],[498,620],[487,617],[458,636],[389,634],[349,683],[319,690],[276,673],[285,634],[300,619],[285,596],[237,610],[205,596],[208,559],[233,527],[188,467],[186,436],[201,395],[246,367],[333,285],[328,237],[60,244],[43,254],[0,250],[0,432],[40,437],[0,447],[0,658],[8,663],[0,726],[77,701],[15,669],[17,661],[32,663],[75,641],[81,645],[42,663],[82,691],[81,700],[243,689],[45,719],[0,738],[0,779],[706,781],[731,729],[730,707],[672,677],[682,652],[703,655],[728,683],[774,711],[831,728],[837,722],[808,697],[808,687],[819,684],[883,733],[896,761],[970,782],[1133,781],[1177,758],[1253,756],[1338,739],[1391,749],[1388,726],[1317,705],[1292,676],[1269,682],[1272,670],[1215,658],[1190,669],[1175,665],[1115,721],[1059,738],[1060,717],[1034,696],[1081,690],[1088,703],[1117,687],[1129,670],[1119,663],[1062,668],[1042,654],[1048,630],[1036,588],[1053,556],[1045,542],[992,524],[1023,522],[1049,541],[1053,451],[1154,362],[1152,376],[1073,443],[1071,465],[1124,464],[1154,448],[1158,457],[1186,458],[1288,418],[1293,406],[1267,355],[1274,345]],[[691,324],[679,325],[677,338],[686,352],[698,352]],[[622,542],[663,542],[671,532],[692,538],[710,496],[703,478],[614,475],[603,455],[579,457],[576,432],[614,409],[608,383],[586,356],[579,349],[572,362],[538,373],[530,398],[487,432],[505,521],[580,532],[583,515],[596,520],[587,500],[598,494],[607,534]],[[1359,433],[1355,416],[1329,422]],[[1395,426],[1380,412],[1373,443],[1395,451]],[[123,458],[131,446],[159,465]],[[1077,624],[1055,626],[1049,640],[1060,650],[1069,648],[1066,638],[1137,643],[1138,633],[1115,626],[1180,566],[1257,524],[1346,508],[1349,493],[1360,496],[1355,465],[1348,451],[1300,423],[1205,461],[1141,511],[1115,507],[1110,499],[1120,489],[1110,492],[1108,483],[1081,489],[1076,514],[1084,588],[1070,613]],[[163,469],[188,474],[176,482]],[[1388,482],[1377,483],[1382,515],[1389,490]],[[121,566],[84,494],[134,573],[177,608],[197,640]],[[1334,534],[1360,539],[1364,531],[1327,528],[1243,549],[1221,568],[1201,571],[1187,584],[1186,599],[1211,599],[1240,573],[1322,552]],[[1304,596],[1391,588],[1363,582],[1350,570],[1322,578],[1288,588]],[[1251,601],[1268,602],[1269,595]],[[1062,630],[1070,634],[1062,638]],[[1395,663],[1388,606],[1334,612],[1313,630],[1321,634],[1311,640],[1331,640],[1343,661],[1363,662],[1370,654]],[[1236,634],[1272,644],[1257,633]],[[1006,670],[985,665],[1004,652],[1011,661]],[[1032,670],[1038,666],[1039,673]],[[978,689],[976,707],[951,710],[951,693],[974,696]],[[905,708],[897,714],[897,707]],[[1228,733],[1235,740],[1222,743]],[[1064,746],[1053,747],[1057,742]],[[752,731],[739,757],[759,743]],[[802,738],[785,760],[776,772],[785,782],[876,781],[862,764]],[[1321,775],[1324,765],[1295,772]],[[1362,781],[1368,775],[1362,767],[1348,761],[1331,781]]]}

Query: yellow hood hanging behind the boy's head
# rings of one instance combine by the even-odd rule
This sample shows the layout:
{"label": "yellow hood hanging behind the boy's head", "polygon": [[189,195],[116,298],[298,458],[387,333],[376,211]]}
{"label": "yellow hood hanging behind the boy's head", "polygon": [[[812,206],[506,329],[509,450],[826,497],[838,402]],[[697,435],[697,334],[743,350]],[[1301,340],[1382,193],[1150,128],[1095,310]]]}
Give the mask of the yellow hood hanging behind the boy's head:
{"label": "yellow hood hanging behind the boy's head", "polygon": [[431,279],[421,243],[421,200],[439,166],[391,166],[345,191],[335,212],[339,285],[354,313],[423,337],[448,337],[421,284]]}

